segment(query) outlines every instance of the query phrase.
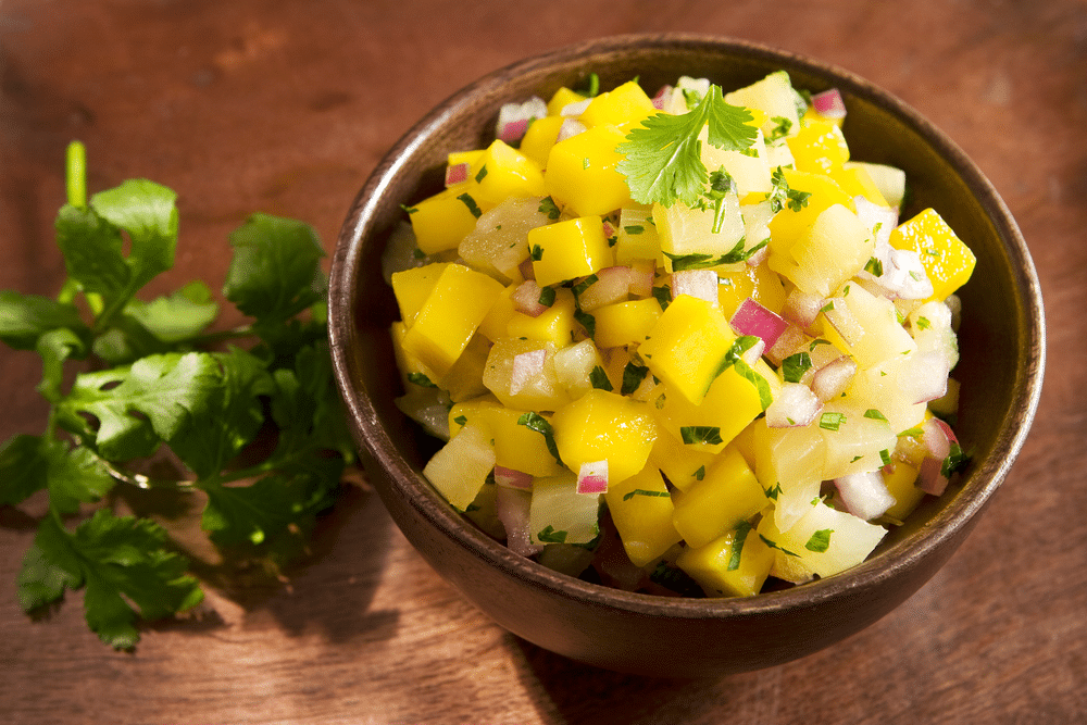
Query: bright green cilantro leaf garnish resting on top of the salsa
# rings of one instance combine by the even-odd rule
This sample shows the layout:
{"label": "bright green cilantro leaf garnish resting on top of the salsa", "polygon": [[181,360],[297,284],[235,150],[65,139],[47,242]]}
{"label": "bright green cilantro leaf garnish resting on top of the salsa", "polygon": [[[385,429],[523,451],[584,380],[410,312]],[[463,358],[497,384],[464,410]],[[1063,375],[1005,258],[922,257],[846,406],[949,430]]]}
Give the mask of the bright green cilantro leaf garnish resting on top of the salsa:
{"label": "bright green cilantro leaf garnish resting on top of the salsa", "polygon": [[644,204],[694,205],[704,192],[708,172],[701,160],[699,134],[719,149],[738,151],[755,140],[751,113],[725,102],[721,87],[710,86],[698,105],[680,115],[658,113],[641,122],[615,149],[625,154],[616,166],[627,177],[630,196]]}

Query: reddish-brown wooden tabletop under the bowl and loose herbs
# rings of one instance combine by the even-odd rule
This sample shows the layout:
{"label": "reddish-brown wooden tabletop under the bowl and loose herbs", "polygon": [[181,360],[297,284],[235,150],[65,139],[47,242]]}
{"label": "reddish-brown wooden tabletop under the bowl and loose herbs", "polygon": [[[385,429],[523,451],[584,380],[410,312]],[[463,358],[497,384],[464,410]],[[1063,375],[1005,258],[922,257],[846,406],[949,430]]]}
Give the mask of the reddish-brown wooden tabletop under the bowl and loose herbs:
{"label": "reddish-brown wooden tabletop under the bowl and loose herbs", "polygon": [[[467,3],[464,3],[467,5]],[[977,162],[1049,313],[1041,407],[1011,476],[920,592],[851,639],[704,682],[599,672],[491,624],[352,487],[282,586],[209,587],[134,652],[82,595],[46,621],[15,576],[41,511],[0,510],[3,723],[1073,723],[1087,718],[1087,5],[1078,0],[458,3],[0,0],[0,288],[52,295],[63,151],[92,190],[179,193],[175,270],[222,284],[252,211],[330,251],[357,189],[433,104],[526,54],[628,32],[734,36],[880,84]],[[33,355],[0,351],[0,438],[40,433]]]}

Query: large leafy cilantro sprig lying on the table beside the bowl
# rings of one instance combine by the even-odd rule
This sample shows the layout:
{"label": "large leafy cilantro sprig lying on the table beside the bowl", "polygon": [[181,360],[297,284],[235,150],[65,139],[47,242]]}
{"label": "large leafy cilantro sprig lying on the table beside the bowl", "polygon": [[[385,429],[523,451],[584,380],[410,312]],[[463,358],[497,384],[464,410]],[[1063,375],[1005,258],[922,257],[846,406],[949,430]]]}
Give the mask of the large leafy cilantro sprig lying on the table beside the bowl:
{"label": "large leafy cilantro sprig lying on the table beside the bowl", "polygon": [[[334,502],[353,452],[332,382],[313,229],[254,214],[232,234],[223,296],[251,322],[212,330],[218,303],[202,282],[136,298],[173,265],[176,195],[134,179],[88,199],[85,168],[73,143],[55,223],[60,292],[0,291],[0,340],[39,354],[37,390],[50,404],[40,435],[0,447],[0,504],[39,491],[48,500],[18,574],[22,607],[82,588],[90,629],[127,649],[141,620],[188,610],[203,592],[152,518],[168,512],[147,503],[130,515],[117,512],[121,501],[147,502],[150,488],[198,495],[212,543],[274,565],[283,542]],[[73,525],[80,511],[90,513]]]}

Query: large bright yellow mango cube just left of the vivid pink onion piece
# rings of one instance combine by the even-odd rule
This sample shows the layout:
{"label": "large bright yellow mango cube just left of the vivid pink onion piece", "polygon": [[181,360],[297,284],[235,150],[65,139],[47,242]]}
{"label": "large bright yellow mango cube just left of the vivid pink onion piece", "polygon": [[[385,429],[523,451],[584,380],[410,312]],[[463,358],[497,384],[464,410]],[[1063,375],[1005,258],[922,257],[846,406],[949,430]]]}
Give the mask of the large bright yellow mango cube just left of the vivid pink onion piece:
{"label": "large bright yellow mango cube just left of the vivid pink onion piece", "polygon": [[720,309],[680,295],[658,318],[638,353],[673,393],[698,405],[720,375],[735,340]]}

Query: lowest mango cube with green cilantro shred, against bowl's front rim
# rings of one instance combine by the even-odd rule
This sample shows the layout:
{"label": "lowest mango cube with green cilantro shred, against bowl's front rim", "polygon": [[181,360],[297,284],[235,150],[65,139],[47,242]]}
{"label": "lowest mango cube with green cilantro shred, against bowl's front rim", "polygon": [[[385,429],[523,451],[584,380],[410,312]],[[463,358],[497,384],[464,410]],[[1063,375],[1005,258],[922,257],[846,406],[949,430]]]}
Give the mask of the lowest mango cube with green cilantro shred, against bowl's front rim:
{"label": "lowest mango cube with green cilantro shred, against bowl's front rim", "polygon": [[752,597],[770,576],[774,550],[759,532],[744,525],[703,547],[685,549],[676,565],[698,582],[708,597]]}

